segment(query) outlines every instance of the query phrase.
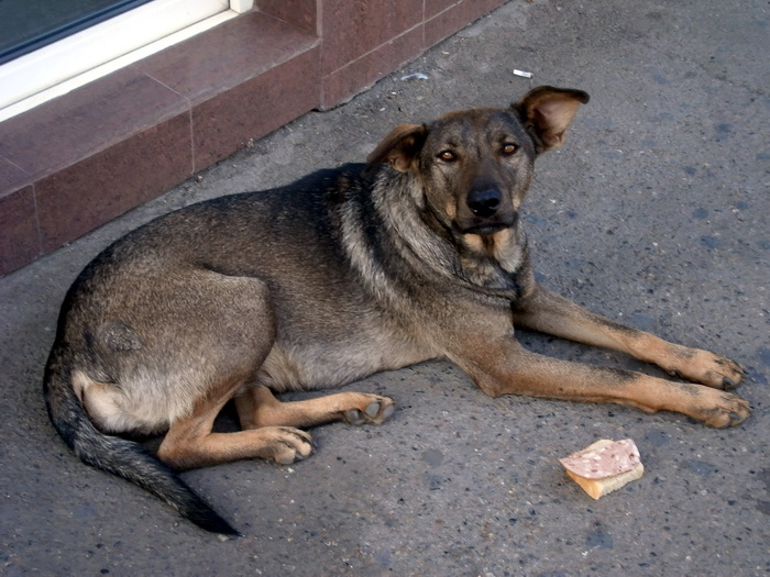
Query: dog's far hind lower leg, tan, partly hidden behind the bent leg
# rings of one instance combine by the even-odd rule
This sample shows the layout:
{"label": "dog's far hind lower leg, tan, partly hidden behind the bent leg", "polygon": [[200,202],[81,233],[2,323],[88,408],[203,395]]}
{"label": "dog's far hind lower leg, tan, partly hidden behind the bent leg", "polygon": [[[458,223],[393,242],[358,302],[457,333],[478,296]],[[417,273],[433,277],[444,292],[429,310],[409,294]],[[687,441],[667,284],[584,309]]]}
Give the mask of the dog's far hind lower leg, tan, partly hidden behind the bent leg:
{"label": "dog's far hind lower leg, tan, partly hidden behind the bent leg", "polygon": [[393,400],[365,392],[338,392],[316,399],[282,402],[267,387],[250,387],[235,397],[244,430],[264,426],[308,428],[332,421],[380,424],[393,414]]}

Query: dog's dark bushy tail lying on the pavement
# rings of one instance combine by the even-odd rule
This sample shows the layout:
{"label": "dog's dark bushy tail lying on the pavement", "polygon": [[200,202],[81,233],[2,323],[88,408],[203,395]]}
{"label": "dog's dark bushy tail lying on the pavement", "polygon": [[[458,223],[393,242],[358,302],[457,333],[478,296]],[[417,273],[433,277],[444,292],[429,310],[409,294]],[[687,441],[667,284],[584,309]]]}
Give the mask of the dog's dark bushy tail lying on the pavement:
{"label": "dog's dark bushy tail lying on the pavement", "polygon": [[201,529],[238,535],[230,523],[139,443],[106,435],[94,426],[73,390],[68,356],[62,347],[54,345],[45,368],[43,393],[51,422],[75,454],[92,467],[146,489]]}

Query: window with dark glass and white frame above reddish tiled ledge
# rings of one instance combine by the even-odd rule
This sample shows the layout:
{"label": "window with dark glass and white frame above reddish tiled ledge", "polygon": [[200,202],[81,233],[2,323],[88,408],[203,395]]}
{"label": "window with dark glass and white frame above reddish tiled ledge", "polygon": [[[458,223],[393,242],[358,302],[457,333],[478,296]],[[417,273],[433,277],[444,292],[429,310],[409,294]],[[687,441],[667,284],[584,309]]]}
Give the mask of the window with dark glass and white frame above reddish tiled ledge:
{"label": "window with dark glass and white frame above reddish tiled ledge", "polygon": [[0,0],[0,122],[251,9],[235,4]]}

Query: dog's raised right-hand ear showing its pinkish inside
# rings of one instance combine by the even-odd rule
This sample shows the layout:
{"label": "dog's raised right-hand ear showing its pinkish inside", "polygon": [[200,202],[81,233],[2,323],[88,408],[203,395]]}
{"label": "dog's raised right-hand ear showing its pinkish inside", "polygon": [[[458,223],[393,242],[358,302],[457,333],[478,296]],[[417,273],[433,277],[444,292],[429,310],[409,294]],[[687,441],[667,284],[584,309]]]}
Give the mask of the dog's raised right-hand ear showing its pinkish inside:
{"label": "dog's raised right-hand ear showing its pinkish inside", "polygon": [[588,102],[588,95],[571,88],[539,86],[527,92],[513,109],[535,141],[538,154],[558,148],[564,142],[564,133],[581,104]]}

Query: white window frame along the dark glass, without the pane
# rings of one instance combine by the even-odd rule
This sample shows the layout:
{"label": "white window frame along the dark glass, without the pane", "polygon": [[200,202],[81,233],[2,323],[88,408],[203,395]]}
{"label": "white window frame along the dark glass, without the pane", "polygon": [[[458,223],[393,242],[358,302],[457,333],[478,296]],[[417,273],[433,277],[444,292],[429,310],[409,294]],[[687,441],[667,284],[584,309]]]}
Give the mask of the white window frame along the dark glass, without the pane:
{"label": "white window frame along the dark glass, without the pane", "polygon": [[0,66],[0,122],[250,10],[253,0],[153,0]]}

